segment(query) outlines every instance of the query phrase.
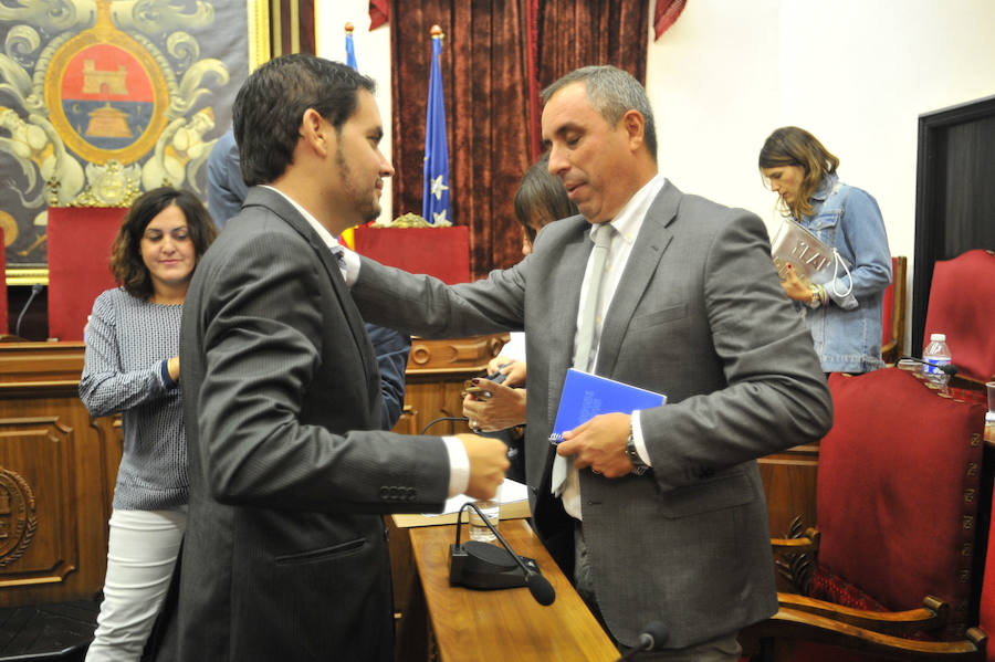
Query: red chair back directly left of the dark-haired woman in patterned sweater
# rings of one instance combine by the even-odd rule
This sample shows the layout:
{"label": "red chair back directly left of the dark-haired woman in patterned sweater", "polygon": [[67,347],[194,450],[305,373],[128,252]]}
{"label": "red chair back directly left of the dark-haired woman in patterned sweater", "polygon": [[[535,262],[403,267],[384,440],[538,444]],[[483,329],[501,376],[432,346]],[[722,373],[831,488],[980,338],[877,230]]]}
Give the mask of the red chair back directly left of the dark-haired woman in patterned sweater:
{"label": "red chair back directly left of the dark-haired woman in patterned sweater", "polygon": [[115,285],[111,245],[126,211],[49,208],[49,336],[83,339],[93,300]]}

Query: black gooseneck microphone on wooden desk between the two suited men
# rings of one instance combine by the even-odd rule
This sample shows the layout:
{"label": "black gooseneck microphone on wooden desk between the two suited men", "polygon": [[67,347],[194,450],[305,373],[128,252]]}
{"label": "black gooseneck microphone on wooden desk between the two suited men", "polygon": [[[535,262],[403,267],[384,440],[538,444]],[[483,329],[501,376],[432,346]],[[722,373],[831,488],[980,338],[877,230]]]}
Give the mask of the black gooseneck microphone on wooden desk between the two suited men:
{"label": "black gooseneck microphone on wooden desk between the two suited men", "polygon": [[[481,521],[501,542],[503,550],[479,540],[470,540],[465,545],[460,545],[460,521],[467,508],[473,508],[476,512]],[[524,572],[524,577],[515,568],[515,565]],[[521,557],[512,551],[507,542],[472,502],[464,503],[457,514],[457,542],[449,546],[449,584],[475,589],[527,586],[528,592],[532,593],[535,601],[544,607],[552,605],[556,599],[553,585],[540,572],[535,559]]]}

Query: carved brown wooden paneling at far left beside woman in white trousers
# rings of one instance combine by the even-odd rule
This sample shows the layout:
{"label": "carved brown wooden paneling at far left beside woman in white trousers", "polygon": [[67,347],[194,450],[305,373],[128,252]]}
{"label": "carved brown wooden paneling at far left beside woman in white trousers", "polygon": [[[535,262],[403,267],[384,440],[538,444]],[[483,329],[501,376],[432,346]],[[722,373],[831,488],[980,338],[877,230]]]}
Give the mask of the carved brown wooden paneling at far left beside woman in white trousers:
{"label": "carved brown wooden paneling at far left beside woman in white trousers", "polygon": [[103,586],[121,443],[112,419],[83,407],[82,369],[82,343],[0,344],[0,467],[22,476],[38,513],[21,558],[0,565],[2,607],[87,600]]}

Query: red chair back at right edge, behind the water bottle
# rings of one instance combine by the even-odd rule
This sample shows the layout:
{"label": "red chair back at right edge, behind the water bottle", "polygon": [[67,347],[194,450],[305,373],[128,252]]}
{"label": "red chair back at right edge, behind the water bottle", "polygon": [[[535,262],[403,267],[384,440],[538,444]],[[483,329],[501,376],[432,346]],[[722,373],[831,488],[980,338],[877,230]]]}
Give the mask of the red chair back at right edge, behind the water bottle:
{"label": "red chair back at right edge, behind the water bottle", "polygon": [[995,253],[974,250],[933,267],[926,312],[930,334],[946,334],[960,376],[995,379]]}

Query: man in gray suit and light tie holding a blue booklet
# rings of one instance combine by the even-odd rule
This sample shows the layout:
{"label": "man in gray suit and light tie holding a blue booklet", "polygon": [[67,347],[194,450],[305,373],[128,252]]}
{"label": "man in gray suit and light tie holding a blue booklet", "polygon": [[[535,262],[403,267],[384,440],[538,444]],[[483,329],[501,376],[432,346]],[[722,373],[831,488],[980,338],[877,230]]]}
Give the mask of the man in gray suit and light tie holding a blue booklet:
{"label": "man in gray suit and light tie holding a blue booklet", "polygon": [[[531,255],[476,283],[446,286],[348,255],[353,297],[371,322],[423,336],[524,329],[525,473],[540,536],[574,566],[620,648],[656,620],[664,650],[640,659],[735,660],[739,630],[777,609],[756,459],[828,430],[825,377],[761,220],[658,174],[638,82],[586,67],[543,96],[549,171],[582,216],[546,227]],[[603,233],[596,276],[591,242]],[[594,328],[578,344],[588,305]],[[668,402],[595,417],[554,453],[564,376],[582,354],[593,360],[578,367]],[[572,464],[552,485],[557,453]]]}

